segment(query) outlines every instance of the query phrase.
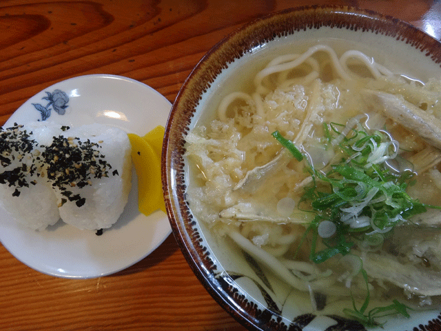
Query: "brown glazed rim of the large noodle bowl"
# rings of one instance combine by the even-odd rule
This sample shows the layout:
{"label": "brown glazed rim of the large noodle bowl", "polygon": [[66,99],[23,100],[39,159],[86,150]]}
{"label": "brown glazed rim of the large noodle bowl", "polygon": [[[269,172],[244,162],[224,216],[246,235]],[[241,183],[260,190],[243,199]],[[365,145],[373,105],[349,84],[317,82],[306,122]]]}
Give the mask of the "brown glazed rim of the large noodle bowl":
{"label": "brown glazed rim of the large noodle bowl", "polygon": [[[269,319],[260,320],[263,314],[269,315],[272,312],[267,310],[260,314],[260,317],[256,317],[251,312],[252,305],[232,299],[232,292],[214,277],[214,266],[209,259],[209,252],[201,248],[201,234],[195,228],[196,219],[192,217],[185,203],[184,138],[189,131],[194,110],[201,100],[201,94],[207,91],[214,78],[228,63],[276,37],[285,37],[300,30],[317,29],[322,26],[362,30],[394,37],[426,53],[426,57],[430,57],[436,65],[440,66],[441,63],[441,45],[438,40],[409,23],[371,10],[348,6],[307,6],[274,12],[238,28],[205,54],[178,92],[165,128],[161,174],[165,205],[174,237],[187,263],[207,292],[249,330],[282,329],[274,319],[271,323]],[[218,59],[226,61],[217,61]],[[440,318],[441,316],[438,317]],[[289,327],[283,328],[288,329]]]}

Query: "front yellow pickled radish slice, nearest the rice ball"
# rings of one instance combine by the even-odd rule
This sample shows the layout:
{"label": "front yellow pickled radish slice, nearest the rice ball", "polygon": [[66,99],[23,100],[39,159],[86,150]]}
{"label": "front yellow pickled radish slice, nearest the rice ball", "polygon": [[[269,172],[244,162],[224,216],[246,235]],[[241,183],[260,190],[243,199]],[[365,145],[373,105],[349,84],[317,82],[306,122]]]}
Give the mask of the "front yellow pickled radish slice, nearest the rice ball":
{"label": "front yellow pickled radish slice, nearest the rice ball", "polygon": [[165,212],[161,183],[161,157],[143,137],[133,133],[128,136],[132,144],[132,161],[138,176],[139,211],[146,216],[158,209]]}

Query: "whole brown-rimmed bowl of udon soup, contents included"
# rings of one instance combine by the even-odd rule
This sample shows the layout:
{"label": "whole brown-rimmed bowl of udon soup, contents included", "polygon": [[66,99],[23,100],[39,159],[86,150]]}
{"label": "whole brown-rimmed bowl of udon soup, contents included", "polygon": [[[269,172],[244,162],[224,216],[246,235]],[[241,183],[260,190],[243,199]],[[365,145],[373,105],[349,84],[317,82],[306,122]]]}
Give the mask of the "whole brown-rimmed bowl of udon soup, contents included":
{"label": "whole brown-rimmed bowl of udon soup, contents included", "polygon": [[247,24],[194,68],[165,132],[165,203],[240,323],[441,324],[440,63],[407,23],[310,7]]}

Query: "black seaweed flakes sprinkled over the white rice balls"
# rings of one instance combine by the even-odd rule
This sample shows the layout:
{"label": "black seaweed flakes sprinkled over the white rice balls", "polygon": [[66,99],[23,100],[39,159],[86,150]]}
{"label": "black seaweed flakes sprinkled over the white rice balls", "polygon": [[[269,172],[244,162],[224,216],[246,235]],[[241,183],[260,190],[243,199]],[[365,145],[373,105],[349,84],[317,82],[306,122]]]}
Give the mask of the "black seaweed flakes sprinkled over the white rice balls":
{"label": "black seaweed flakes sprinkled over the white rice balls", "polygon": [[[61,135],[53,137],[50,146],[38,146],[36,141],[30,139],[32,132],[28,133],[21,128],[23,126],[17,123],[14,123],[12,128],[0,128],[1,165],[6,168],[12,161],[19,161],[16,168],[0,174],[0,184],[8,184],[15,188],[13,197],[19,197],[19,188],[29,187],[30,183],[37,184],[35,179],[28,176],[35,174],[41,179],[45,177],[53,187],[61,190],[65,198],[61,199],[59,207],[67,201],[74,201],[81,207],[85,204],[85,198],[80,194],[73,194],[68,188],[83,188],[92,185],[91,179],[108,177],[112,165],[105,160],[105,155],[99,152],[99,143],[93,143],[90,139],[81,141],[79,138],[66,138]],[[69,127],[62,126],[61,130],[69,130]],[[118,171],[114,170],[112,175],[119,175]]]}

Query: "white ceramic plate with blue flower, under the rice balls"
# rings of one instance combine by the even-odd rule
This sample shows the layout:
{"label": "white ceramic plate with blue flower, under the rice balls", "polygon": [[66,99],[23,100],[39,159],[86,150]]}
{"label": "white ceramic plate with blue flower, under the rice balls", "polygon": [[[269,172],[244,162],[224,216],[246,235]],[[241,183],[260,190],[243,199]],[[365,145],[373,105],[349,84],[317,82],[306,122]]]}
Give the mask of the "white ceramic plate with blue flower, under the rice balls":
{"label": "white ceramic plate with blue flower, under the rice balls", "polygon": [[[47,121],[66,126],[96,122],[144,135],[156,126],[165,126],[171,107],[165,97],[139,81],[88,75],[45,88],[14,112],[4,127],[49,116]],[[133,170],[132,191],[125,210],[101,236],[62,221],[41,232],[29,230],[10,223],[8,214],[0,210],[0,241],[14,257],[45,274],[65,278],[112,274],[146,257],[172,231],[161,210],[149,217],[141,214],[137,197]]]}

